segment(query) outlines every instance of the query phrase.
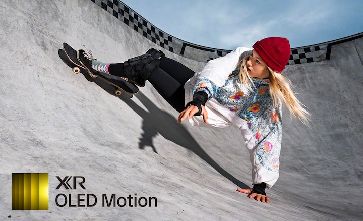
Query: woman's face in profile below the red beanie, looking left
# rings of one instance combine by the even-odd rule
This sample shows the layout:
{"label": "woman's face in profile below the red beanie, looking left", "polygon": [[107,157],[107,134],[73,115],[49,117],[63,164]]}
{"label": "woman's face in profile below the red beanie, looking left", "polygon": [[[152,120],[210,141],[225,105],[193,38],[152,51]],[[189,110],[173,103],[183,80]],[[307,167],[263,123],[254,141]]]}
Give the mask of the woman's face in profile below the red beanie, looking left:
{"label": "woman's face in profile below the red beanie, looking left", "polygon": [[251,78],[265,79],[270,76],[267,64],[261,59],[255,50],[252,50],[250,59],[246,62],[247,72]]}

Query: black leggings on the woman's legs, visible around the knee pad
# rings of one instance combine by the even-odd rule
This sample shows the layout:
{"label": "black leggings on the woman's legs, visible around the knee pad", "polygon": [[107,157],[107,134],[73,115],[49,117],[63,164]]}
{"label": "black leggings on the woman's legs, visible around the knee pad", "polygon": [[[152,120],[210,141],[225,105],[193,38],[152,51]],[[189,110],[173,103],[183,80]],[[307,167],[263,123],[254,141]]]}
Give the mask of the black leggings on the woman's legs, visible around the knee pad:
{"label": "black leggings on the woman's legs, visible around the knee pad", "polygon": [[[112,75],[123,75],[123,64],[111,64],[108,71]],[[194,71],[185,65],[166,58],[160,58],[160,64],[150,74],[148,81],[156,91],[179,113],[185,109],[184,85],[193,77]]]}

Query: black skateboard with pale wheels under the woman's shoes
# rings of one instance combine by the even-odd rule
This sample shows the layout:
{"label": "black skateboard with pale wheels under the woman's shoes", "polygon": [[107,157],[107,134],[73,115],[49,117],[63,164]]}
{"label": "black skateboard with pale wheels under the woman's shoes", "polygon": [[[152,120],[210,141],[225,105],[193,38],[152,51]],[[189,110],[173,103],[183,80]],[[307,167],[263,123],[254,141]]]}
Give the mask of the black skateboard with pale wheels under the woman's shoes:
{"label": "black skateboard with pale wheels under the woman's shoes", "polygon": [[[67,58],[69,59],[69,61],[73,64],[73,73],[78,74],[79,72],[82,73],[87,73],[86,69],[83,67],[83,65],[78,61],[77,59],[77,51],[75,49],[73,49],[70,45],[68,45],[67,43],[63,43],[63,50],[67,56]],[[103,81],[113,85],[115,87],[115,92],[114,94],[116,96],[119,96],[122,91],[129,93],[129,94],[135,94],[137,92],[139,92],[139,88],[133,84],[130,83],[122,78],[119,79],[111,79],[111,78],[107,78],[106,75],[102,75],[102,73],[98,72],[97,77],[96,78],[100,78]],[[87,73],[88,75],[88,73]],[[89,75],[88,75],[89,76]]]}

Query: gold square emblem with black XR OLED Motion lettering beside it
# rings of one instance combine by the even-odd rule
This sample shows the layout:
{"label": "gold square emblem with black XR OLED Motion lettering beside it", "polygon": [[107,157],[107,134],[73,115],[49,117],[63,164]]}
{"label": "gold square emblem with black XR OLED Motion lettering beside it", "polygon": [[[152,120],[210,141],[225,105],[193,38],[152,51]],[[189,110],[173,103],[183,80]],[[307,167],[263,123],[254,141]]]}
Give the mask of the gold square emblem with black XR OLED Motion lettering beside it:
{"label": "gold square emblem with black XR OLED Motion lettering beside it", "polygon": [[[98,204],[102,207],[157,207],[156,197],[138,196],[136,193],[126,196],[89,193],[83,176],[55,178],[58,184],[54,201],[58,207],[94,207]],[[48,173],[12,173],[12,210],[48,210],[48,203]]]}

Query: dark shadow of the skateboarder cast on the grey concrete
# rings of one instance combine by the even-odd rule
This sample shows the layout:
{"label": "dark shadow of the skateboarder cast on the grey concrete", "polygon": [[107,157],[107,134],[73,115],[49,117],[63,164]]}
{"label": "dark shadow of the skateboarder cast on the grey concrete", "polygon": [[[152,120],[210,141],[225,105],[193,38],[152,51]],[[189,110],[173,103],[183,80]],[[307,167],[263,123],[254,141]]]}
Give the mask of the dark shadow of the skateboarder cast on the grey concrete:
{"label": "dark shadow of the skateboarder cast on the grey concrete", "polygon": [[124,96],[124,93],[119,98],[129,105],[142,119],[142,129],[139,148],[144,149],[146,146],[150,146],[154,152],[157,153],[156,147],[153,144],[153,137],[160,134],[165,139],[180,145],[186,149],[193,151],[200,158],[206,161],[211,167],[213,167],[218,173],[230,180],[232,183],[240,188],[250,188],[245,183],[239,181],[237,178],[229,174],[223,168],[218,165],[196,142],[196,140],[190,135],[186,128],[182,124],[176,122],[175,117],[169,113],[163,111],[157,107],[150,99],[148,99],[143,93],[134,94],[148,109],[141,108],[130,97]]}

